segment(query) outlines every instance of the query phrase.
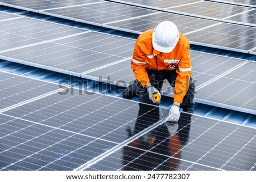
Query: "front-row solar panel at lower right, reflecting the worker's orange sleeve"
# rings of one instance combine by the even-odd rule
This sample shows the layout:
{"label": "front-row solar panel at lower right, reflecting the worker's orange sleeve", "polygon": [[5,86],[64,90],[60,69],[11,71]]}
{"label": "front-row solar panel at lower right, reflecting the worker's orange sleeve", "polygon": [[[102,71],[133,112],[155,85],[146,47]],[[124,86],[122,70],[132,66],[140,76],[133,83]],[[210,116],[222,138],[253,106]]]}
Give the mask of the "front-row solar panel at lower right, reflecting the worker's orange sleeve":
{"label": "front-row solar panel at lower right, reflecting the worker's orange sleeve", "polygon": [[84,170],[253,170],[255,128],[190,117],[182,113],[178,126],[164,122]]}

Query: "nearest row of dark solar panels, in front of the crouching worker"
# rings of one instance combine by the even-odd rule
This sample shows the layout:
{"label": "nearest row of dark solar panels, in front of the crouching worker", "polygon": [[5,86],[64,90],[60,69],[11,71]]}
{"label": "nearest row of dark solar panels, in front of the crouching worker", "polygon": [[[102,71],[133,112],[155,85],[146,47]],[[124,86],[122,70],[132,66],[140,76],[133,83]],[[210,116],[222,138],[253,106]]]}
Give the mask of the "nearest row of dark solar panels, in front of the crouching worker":
{"label": "nearest row of dark solar panels, in front of the crouching worker", "polygon": [[2,71],[0,88],[0,170],[256,170],[255,128]]}

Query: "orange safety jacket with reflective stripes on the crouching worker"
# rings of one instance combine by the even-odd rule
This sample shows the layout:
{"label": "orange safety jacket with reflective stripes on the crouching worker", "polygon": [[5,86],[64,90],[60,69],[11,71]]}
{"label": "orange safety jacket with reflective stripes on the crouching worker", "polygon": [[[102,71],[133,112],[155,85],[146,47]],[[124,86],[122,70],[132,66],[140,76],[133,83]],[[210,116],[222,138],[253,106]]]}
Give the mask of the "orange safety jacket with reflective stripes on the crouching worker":
{"label": "orange safety jacket with reflective stripes on the crouching worker", "polygon": [[180,33],[180,39],[171,53],[160,53],[152,46],[152,29],[139,35],[131,60],[135,78],[145,87],[150,83],[146,69],[166,70],[169,65],[176,66],[174,101],[182,103],[189,88],[191,76],[191,58],[187,37]]}

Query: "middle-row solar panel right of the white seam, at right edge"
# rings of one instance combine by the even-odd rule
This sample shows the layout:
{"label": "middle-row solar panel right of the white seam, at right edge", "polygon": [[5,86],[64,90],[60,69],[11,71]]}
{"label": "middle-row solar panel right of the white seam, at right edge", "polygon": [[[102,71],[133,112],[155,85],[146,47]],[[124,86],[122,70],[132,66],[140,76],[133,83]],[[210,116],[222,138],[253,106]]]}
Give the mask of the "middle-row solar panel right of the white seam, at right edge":
{"label": "middle-row solar panel right of the white seam, at right edge", "polygon": [[256,88],[255,76],[255,62],[247,61],[229,74],[198,89],[196,98],[211,101],[220,107],[255,115],[256,97],[253,94]]}

